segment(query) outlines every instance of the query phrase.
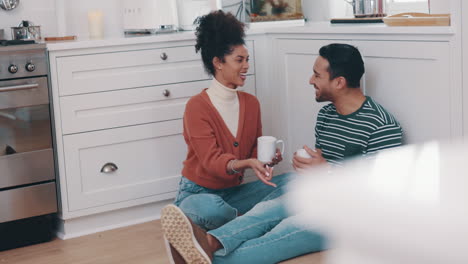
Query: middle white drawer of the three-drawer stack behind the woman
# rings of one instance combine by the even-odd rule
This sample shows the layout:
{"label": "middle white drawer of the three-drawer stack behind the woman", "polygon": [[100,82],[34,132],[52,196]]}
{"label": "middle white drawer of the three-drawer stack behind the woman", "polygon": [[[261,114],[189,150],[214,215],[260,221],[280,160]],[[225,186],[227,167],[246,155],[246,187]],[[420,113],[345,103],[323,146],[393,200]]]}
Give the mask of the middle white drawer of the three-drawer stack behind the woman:
{"label": "middle white drawer of the three-drawer stack behind the woman", "polygon": [[[61,97],[63,134],[182,118],[188,99],[210,83],[206,80]],[[243,90],[255,94],[255,76],[248,76]]]}

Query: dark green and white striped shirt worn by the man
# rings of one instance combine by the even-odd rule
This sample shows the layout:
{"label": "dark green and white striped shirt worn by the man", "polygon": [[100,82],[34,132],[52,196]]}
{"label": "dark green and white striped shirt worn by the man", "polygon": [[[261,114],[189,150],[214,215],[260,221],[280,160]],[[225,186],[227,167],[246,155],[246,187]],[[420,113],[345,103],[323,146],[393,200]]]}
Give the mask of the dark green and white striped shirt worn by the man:
{"label": "dark green and white striped shirt worn by the man", "polygon": [[322,107],[315,126],[315,147],[329,163],[339,165],[345,158],[400,146],[402,135],[398,121],[367,96],[361,108],[349,115],[340,115],[333,104]]}

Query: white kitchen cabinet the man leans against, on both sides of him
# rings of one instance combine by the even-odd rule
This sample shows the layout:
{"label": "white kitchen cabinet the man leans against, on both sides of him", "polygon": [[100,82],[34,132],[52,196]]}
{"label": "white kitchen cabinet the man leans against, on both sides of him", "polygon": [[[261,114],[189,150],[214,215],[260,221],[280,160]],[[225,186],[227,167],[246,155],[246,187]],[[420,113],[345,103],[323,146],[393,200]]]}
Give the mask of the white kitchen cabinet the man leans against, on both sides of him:
{"label": "white kitchen cabinet the man leans against, on both sides of him", "polygon": [[363,90],[400,121],[406,143],[450,139],[452,134],[460,134],[452,127],[457,117],[451,106],[452,96],[461,93],[451,86],[448,40],[278,38],[272,83],[278,94],[273,105],[279,108],[280,118],[274,129],[275,134],[287,141],[286,160],[304,144],[315,144],[316,116],[325,103],[315,101],[309,79],[320,47],[330,43],[348,43],[359,48],[366,68]]}

